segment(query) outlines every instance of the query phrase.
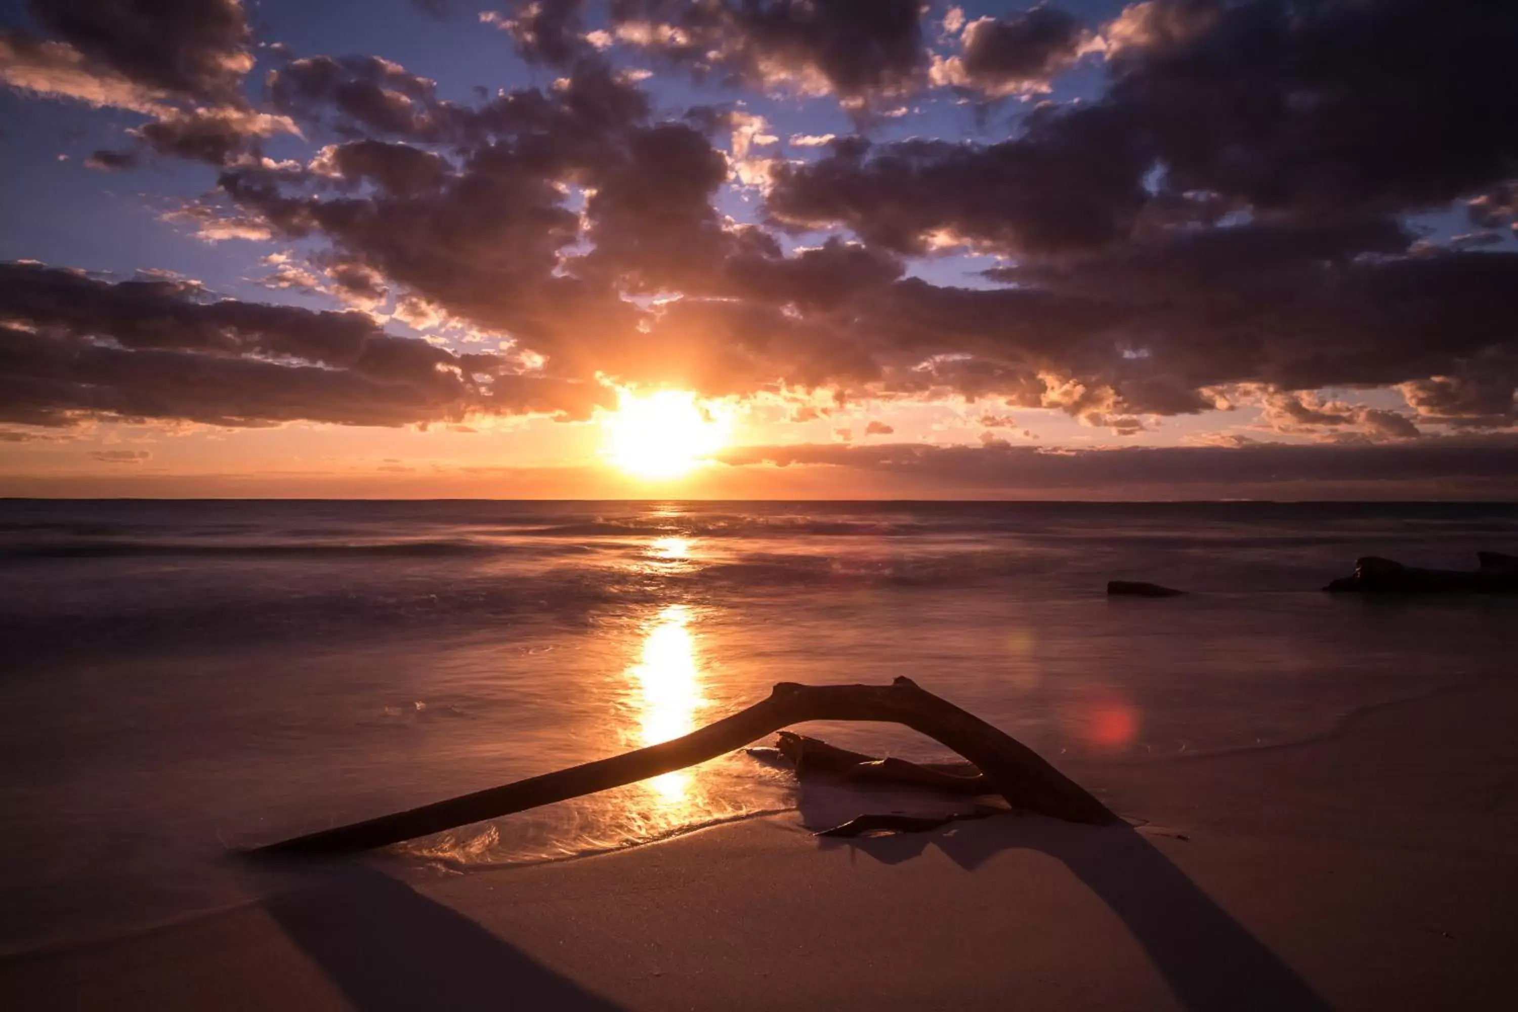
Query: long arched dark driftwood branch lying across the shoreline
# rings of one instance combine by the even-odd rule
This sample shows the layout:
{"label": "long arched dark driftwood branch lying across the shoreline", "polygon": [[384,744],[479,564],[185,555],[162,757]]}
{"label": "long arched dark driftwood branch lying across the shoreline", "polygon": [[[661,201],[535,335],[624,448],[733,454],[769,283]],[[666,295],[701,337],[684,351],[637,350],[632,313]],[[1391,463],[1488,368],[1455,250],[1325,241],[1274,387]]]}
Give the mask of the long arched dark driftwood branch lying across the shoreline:
{"label": "long arched dark driftwood branch lying across the shoreline", "polygon": [[[970,760],[985,775],[988,786],[1006,798],[1016,810],[1049,815],[1069,822],[1116,821],[1107,806],[1031,748],[952,702],[920,689],[909,678],[897,678],[890,686],[802,686],[783,681],[767,699],[683,737],[408,812],[298,836],[257,848],[252,854],[345,854],[386,847],[648,780],[715,759],[783,727],[806,721],[905,724]],[[944,775],[953,774],[944,772]]]}

